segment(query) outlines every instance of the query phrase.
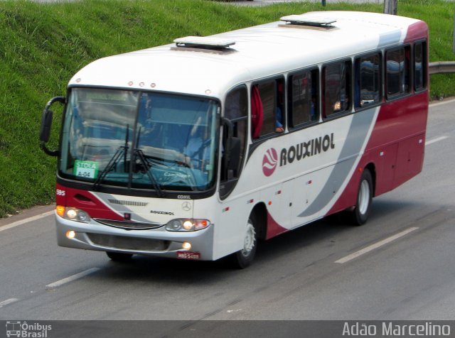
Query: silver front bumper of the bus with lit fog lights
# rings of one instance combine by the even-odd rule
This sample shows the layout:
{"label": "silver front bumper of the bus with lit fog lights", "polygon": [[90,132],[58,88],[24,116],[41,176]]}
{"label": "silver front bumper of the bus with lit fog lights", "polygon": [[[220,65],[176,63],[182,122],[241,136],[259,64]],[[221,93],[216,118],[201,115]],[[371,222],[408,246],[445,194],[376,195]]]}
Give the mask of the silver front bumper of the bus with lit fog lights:
{"label": "silver front bumper of the bus with lit fog lights", "polygon": [[[127,230],[55,215],[57,243],[68,248],[168,258],[213,260],[213,224],[199,231]],[[73,232],[72,232],[73,231]],[[190,249],[184,249],[183,246]]]}

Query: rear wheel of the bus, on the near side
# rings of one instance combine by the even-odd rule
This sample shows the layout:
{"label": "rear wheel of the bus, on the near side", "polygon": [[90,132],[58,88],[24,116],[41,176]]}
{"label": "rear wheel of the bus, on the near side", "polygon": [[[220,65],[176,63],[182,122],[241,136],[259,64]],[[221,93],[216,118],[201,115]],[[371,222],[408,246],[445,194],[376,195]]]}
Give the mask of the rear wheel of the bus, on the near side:
{"label": "rear wheel of the bus, on the near side", "polygon": [[357,190],[357,202],[351,212],[354,225],[363,225],[368,220],[373,202],[373,177],[370,170],[363,170]]}

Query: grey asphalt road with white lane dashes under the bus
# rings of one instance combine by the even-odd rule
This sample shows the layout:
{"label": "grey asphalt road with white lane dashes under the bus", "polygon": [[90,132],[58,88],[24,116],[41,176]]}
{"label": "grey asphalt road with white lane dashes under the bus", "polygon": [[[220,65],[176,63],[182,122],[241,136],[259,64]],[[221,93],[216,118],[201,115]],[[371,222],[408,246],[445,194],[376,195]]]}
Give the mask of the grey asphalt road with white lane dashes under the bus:
{"label": "grey asphalt road with white lane dashes under the bus", "polygon": [[1,220],[0,320],[453,320],[454,104],[432,104],[423,172],[367,224],[291,231],[242,271],[60,248],[45,207]]}

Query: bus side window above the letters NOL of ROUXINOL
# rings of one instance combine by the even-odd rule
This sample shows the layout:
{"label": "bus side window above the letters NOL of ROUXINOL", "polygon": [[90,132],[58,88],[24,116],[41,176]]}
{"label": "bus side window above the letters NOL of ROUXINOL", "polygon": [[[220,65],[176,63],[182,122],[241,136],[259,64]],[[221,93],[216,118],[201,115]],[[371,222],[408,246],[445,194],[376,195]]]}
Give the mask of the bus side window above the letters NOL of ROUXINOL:
{"label": "bus side window above the letters NOL of ROUXINOL", "polygon": [[350,61],[336,62],[323,67],[324,118],[350,110],[350,68]]}

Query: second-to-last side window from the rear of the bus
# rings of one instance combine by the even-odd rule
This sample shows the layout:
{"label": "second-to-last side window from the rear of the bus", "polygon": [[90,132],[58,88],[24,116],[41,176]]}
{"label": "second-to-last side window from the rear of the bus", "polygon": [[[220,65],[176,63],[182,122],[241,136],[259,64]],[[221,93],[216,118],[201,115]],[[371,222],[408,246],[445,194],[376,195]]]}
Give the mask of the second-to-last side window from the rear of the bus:
{"label": "second-to-last side window from the rear of the bus", "polygon": [[410,91],[410,48],[387,50],[385,54],[387,99]]}

